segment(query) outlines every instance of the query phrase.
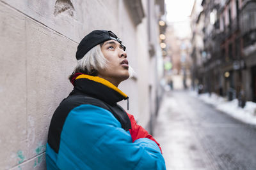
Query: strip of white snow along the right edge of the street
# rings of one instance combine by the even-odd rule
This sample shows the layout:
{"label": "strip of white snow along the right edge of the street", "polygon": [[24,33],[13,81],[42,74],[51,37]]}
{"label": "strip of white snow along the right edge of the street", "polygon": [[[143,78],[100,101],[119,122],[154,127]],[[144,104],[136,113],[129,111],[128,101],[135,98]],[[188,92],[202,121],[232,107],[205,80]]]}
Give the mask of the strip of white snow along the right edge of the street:
{"label": "strip of white snow along the right edge of the street", "polygon": [[217,110],[223,111],[246,124],[256,125],[256,103],[252,101],[247,101],[244,108],[241,108],[238,106],[237,99],[228,101],[226,98],[220,97],[214,93],[212,93],[211,96],[209,93],[198,95],[195,91],[191,91],[189,94],[198,97],[198,99],[205,103],[212,104]]}

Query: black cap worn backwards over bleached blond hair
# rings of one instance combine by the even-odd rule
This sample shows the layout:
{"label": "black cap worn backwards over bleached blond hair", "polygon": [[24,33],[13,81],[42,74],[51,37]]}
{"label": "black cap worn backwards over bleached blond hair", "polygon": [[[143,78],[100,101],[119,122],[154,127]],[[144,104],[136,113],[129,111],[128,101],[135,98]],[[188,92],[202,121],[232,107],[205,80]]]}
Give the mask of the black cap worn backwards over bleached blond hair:
{"label": "black cap worn backwards over bleached blond hair", "polygon": [[112,31],[94,30],[86,35],[77,46],[76,59],[82,59],[84,55],[94,46],[110,39],[118,41],[118,43],[120,43],[120,45],[122,45],[125,50],[125,46],[122,44],[122,41],[117,38],[117,36]]}

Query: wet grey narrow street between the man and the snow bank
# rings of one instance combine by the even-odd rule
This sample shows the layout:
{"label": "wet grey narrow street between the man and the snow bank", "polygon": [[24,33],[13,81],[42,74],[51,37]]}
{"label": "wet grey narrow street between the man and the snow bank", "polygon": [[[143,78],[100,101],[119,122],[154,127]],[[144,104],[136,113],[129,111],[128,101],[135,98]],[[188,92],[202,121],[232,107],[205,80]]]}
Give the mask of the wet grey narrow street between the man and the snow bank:
{"label": "wet grey narrow street between the man and the snow bank", "polygon": [[162,147],[166,169],[256,169],[256,128],[188,91],[166,92],[154,138]]}

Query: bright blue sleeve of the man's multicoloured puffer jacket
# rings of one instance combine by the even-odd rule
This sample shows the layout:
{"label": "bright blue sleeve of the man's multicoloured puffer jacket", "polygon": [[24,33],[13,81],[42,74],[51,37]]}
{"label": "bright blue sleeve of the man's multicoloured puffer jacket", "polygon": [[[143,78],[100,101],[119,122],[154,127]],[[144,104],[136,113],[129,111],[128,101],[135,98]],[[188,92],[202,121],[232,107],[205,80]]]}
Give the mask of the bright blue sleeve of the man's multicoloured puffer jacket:
{"label": "bright blue sleeve of the man's multicoloured puffer jacket", "polygon": [[154,141],[132,143],[112,113],[88,104],[68,114],[56,163],[60,169],[166,169]]}

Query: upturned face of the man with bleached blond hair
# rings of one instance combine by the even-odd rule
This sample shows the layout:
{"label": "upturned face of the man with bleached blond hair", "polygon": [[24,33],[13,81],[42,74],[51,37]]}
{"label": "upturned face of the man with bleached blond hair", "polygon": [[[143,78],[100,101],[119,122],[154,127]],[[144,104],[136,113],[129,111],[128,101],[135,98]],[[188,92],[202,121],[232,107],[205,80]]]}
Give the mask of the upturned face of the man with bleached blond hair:
{"label": "upturned face of the man with bleached blond hair", "polygon": [[112,39],[103,43],[101,51],[108,60],[108,67],[99,70],[98,76],[117,87],[119,83],[129,78],[127,53],[120,43]]}

